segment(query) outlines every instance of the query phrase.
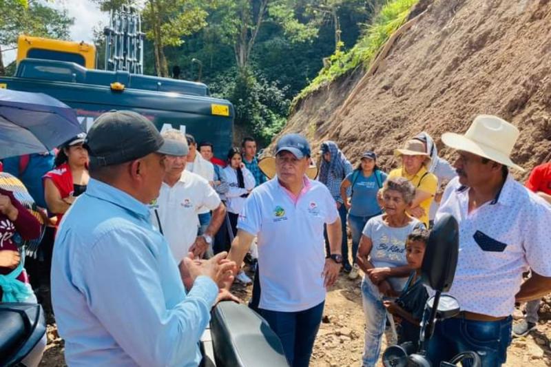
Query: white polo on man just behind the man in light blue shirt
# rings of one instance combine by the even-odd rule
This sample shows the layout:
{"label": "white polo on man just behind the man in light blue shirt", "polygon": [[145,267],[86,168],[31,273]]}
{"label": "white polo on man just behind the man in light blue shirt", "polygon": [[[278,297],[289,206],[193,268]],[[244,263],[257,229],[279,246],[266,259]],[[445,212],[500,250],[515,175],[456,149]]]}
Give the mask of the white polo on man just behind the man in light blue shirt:
{"label": "white polo on man just behind the man in light blue shirt", "polygon": [[200,207],[214,210],[220,205],[220,197],[205,178],[183,171],[180,180],[173,187],[165,182],[160,187],[159,197],[149,206],[151,220],[160,226],[178,264],[187,255],[189,247],[197,238]]}

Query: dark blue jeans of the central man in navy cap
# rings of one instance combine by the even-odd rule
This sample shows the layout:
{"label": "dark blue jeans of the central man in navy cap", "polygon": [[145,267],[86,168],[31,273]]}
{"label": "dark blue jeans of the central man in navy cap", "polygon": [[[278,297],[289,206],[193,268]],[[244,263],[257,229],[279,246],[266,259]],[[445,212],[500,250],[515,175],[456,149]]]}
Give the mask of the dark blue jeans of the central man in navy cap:
{"label": "dark blue jeans of the central man in navy cap", "polygon": [[291,367],[308,367],[322,322],[325,302],[304,311],[280,312],[260,309],[260,315],[280,337],[281,344]]}

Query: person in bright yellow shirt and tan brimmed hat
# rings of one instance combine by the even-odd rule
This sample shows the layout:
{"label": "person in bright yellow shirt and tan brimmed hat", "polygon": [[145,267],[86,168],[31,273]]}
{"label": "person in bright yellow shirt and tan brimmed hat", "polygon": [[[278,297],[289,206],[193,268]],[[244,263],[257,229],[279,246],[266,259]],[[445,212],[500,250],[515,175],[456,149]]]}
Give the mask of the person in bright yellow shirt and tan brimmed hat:
{"label": "person in bright yellow shirt and tan brimmed hat", "polygon": [[408,212],[428,228],[428,212],[438,189],[438,178],[427,167],[430,157],[424,144],[416,139],[406,141],[404,148],[396,149],[394,155],[402,159],[402,166],[393,169],[388,178],[404,177],[415,186],[415,197]]}

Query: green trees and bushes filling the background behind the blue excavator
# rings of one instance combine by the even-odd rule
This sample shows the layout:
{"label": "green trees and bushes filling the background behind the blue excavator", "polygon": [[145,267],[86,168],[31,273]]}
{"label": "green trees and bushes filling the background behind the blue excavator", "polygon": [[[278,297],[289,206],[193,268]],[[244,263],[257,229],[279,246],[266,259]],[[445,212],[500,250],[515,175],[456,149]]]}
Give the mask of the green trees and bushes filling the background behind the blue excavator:
{"label": "green trees and bushes filling the background behind the blue excavator", "polygon": [[[146,34],[145,74],[209,85],[233,103],[236,125],[264,145],[284,126],[290,106],[368,67],[418,0],[92,1],[104,11],[137,6]],[[55,10],[58,2],[0,0],[8,14],[0,19],[0,45],[13,47],[20,32],[66,38],[73,20]],[[104,25],[94,30],[98,68]]]}

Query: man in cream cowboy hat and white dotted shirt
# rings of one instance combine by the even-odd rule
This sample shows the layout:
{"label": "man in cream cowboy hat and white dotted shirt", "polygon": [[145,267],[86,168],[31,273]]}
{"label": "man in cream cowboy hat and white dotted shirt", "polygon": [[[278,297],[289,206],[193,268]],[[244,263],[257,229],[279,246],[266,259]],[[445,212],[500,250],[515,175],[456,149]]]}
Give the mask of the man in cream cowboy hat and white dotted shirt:
{"label": "man in cream cowboy hat and white dotted shirt", "polygon": [[[482,366],[501,366],[511,340],[514,302],[551,291],[551,209],[514,180],[508,167],[519,130],[496,116],[477,116],[464,135],[442,141],[457,150],[458,177],[450,181],[436,220],[449,213],[459,222],[459,260],[453,286],[461,313],[439,322],[430,339],[433,365],[465,350]],[[522,274],[532,270],[523,282]]]}

